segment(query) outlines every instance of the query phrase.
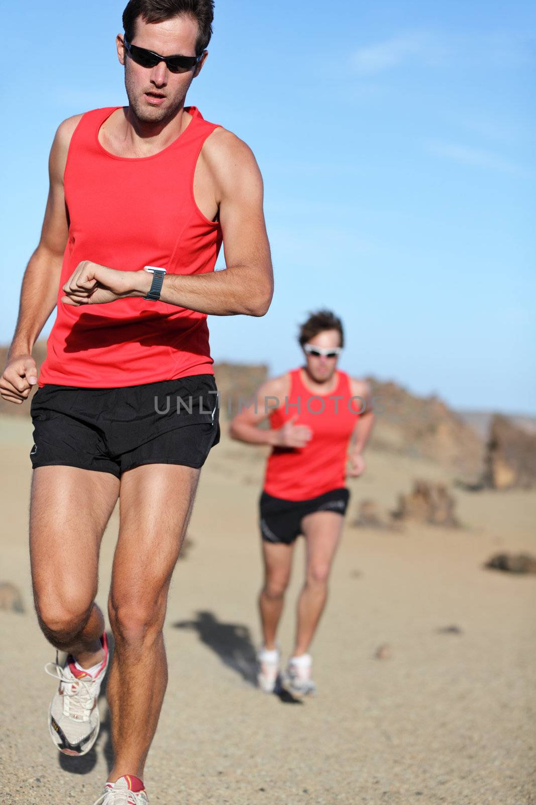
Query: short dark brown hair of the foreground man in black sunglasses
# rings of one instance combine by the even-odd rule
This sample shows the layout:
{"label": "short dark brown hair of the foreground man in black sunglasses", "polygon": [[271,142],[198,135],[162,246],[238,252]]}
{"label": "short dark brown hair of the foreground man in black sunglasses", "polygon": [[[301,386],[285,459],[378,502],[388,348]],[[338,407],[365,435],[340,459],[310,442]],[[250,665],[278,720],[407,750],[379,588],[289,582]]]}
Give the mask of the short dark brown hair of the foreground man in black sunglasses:
{"label": "short dark brown hair of the foreground man in black sunglasses", "polygon": [[199,27],[195,54],[201,56],[211,41],[214,0],[129,0],[123,12],[123,27],[129,42],[136,35],[136,20],[140,16],[145,23],[163,23],[174,17],[193,17]]}

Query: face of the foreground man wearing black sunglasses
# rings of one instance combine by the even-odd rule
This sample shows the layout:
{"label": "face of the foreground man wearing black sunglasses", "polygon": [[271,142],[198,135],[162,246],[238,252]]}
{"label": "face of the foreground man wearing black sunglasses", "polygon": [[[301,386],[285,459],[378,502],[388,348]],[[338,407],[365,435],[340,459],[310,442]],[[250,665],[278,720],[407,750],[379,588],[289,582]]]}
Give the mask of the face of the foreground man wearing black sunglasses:
{"label": "face of the foreground man wearing black sunglasses", "polygon": [[[138,17],[132,44],[160,56],[195,56],[197,37],[198,23],[192,17],[174,17],[163,23],[145,23]],[[141,122],[153,124],[174,118],[207,58],[205,54],[188,72],[170,72],[163,61],[156,67],[142,67],[129,56],[121,35],[117,36],[117,55],[125,64],[125,87],[133,113]]]}

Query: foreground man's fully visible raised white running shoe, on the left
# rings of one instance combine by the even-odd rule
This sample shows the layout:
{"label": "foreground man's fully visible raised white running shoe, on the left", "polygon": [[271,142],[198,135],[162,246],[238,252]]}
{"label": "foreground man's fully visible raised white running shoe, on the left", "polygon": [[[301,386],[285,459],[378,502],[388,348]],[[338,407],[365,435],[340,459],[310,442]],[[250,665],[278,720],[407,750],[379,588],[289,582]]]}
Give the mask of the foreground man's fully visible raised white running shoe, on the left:
{"label": "foreground man's fully visible raised white running shoe, on the left", "polygon": [[62,668],[55,663],[47,663],[45,671],[49,676],[59,679],[48,711],[48,729],[56,749],[63,754],[87,754],[99,734],[100,715],[97,707],[100,686],[108,668],[109,652],[106,634],[100,638],[104,649],[104,660],[95,676],[84,673],[76,667],[71,656]]}

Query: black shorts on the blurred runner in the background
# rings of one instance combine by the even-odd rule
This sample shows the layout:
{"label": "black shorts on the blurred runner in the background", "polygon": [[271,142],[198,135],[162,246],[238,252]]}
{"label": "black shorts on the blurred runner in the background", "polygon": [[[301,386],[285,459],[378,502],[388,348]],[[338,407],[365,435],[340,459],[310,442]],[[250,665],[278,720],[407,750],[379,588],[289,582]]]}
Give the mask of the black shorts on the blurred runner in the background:
{"label": "black shorts on the blurred runner in the background", "polygon": [[317,511],[334,511],[346,514],[350,489],[331,489],[306,501],[287,501],[263,492],[260,496],[260,535],[267,543],[291,545],[299,535],[301,521],[306,514]]}

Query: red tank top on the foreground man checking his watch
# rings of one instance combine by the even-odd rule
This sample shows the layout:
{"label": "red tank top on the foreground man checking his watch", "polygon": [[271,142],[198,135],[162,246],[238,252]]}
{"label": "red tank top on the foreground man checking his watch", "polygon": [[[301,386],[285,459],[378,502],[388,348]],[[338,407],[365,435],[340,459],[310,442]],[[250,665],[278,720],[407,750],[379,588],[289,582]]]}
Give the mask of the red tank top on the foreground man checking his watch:
{"label": "red tank top on the foreground man checking his watch", "polygon": [[141,297],[80,308],[60,301],[82,260],[119,270],[162,266],[170,274],[205,274],[214,270],[222,244],[219,223],[194,201],[198,155],[218,126],[189,106],[190,123],[163,151],[121,157],[98,139],[116,109],[87,112],[72,135],[64,174],[69,239],[39,386],[113,388],[213,374],[204,313]]}

